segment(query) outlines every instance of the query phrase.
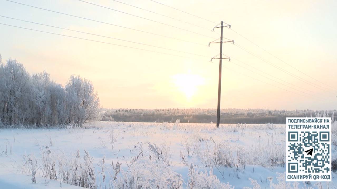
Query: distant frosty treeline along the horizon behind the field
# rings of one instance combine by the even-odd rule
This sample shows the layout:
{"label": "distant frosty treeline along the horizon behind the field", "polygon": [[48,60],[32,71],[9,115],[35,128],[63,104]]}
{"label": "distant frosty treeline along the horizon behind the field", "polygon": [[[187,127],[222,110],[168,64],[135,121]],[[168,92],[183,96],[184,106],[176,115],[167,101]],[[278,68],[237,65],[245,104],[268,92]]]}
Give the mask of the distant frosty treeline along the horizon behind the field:
{"label": "distant frosty treeline along the horizon behind the field", "polygon": [[[216,109],[108,109],[102,121],[216,123]],[[286,117],[327,116],[337,119],[337,111],[221,109],[220,123],[285,124]]]}

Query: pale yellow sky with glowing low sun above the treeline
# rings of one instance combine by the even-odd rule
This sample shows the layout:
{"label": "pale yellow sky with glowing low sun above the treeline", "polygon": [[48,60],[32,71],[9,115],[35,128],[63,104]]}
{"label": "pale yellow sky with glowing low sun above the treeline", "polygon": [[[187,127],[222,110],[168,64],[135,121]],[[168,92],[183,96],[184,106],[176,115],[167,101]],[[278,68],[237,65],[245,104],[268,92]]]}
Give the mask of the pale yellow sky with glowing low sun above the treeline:
{"label": "pale yellow sky with glowing low sun above the treeline", "polygon": [[[71,74],[86,77],[92,80],[95,90],[98,91],[101,105],[104,108],[217,107],[219,62],[218,60],[213,60],[212,63],[209,61],[219,53],[219,44],[212,44],[211,47],[207,47],[208,43],[214,40],[213,38],[220,37],[220,29],[216,29],[215,32],[211,31],[216,24],[150,0],[119,1],[178,18],[209,28],[209,30],[146,12],[113,0],[86,1],[201,33],[212,38],[78,0],[14,1],[186,41],[194,41],[206,46],[136,32],[0,0],[0,15],[3,16],[203,55],[180,53],[0,17],[0,23],[3,24],[187,57],[182,58],[0,25],[0,53],[3,61],[9,57],[15,58],[26,67],[29,73],[46,70],[53,80],[62,84],[66,83]],[[223,37],[235,40],[235,44],[257,54],[267,62],[295,74],[306,80],[306,82],[295,79],[233,44],[224,43],[223,53],[230,56],[232,62],[223,61],[222,64],[221,108],[262,108],[263,106],[268,106],[269,109],[288,110],[337,108],[337,1],[157,1],[213,22],[218,23],[223,20],[225,23],[231,24],[233,30],[284,62],[327,84],[324,85],[298,72],[232,30],[224,28]],[[253,70],[236,60],[292,83],[293,85],[287,84],[254,70],[293,88],[243,69],[235,64]],[[310,82],[313,84],[309,85],[308,83]],[[318,86],[318,88],[312,85]],[[296,95],[289,91],[304,96]]]}

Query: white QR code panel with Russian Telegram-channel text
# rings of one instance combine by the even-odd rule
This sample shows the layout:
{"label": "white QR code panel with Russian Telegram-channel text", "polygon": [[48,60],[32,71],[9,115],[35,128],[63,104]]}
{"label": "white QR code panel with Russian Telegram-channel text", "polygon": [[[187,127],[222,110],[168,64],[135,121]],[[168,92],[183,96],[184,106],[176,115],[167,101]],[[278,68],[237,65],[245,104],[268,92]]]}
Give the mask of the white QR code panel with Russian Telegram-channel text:
{"label": "white QR code panel with Russian Telegram-channel text", "polygon": [[330,122],[296,124],[287,120],[286,145],[287,181],[327,181],[331,178]]}

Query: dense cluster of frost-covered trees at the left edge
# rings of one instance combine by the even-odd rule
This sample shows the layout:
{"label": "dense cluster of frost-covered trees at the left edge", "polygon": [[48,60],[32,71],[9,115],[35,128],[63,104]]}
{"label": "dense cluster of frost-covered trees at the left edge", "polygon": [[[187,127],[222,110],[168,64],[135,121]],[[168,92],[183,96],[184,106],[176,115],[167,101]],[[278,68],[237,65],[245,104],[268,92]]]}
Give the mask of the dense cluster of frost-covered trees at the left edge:
{"label": "dense cluster of frost-covered trees at the left edge", "polygon": [[17,60],[0,64],[0,125],[81,126],[98,115],[91,81],[72,75],[63,87],[46,71],[30,75]]}

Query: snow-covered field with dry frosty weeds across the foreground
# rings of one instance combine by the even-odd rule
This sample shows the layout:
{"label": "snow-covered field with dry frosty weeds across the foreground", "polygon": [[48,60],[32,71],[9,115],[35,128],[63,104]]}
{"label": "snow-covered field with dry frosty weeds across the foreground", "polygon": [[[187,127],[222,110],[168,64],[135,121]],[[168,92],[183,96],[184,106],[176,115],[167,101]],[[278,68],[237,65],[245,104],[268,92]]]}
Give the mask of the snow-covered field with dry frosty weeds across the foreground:
{"label": "snow-covered field with dry frosty weeds across the foreground", "polygon": [[[0,129],[0,188],[294,187],[282,177],[285,125],[216,128],[177,121],[85,127]],[[335,188],[337,179],[332,173],[329,183],[298,184]]]}

